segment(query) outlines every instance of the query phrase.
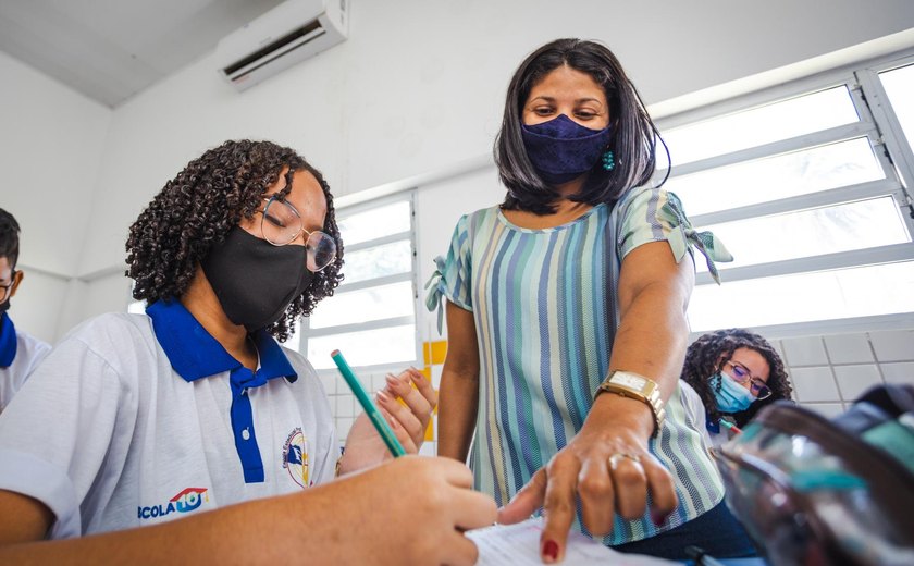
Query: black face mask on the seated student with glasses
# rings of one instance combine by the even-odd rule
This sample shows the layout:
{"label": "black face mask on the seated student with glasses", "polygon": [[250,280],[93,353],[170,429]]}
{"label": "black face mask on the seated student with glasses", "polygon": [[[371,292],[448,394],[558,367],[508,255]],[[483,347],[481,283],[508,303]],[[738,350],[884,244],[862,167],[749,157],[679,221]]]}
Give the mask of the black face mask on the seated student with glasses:
{"label": "black face mask on the seated student with glasses", "polygon": [[314,274],[305,246],[274,246],[234,227],[200,262],[228,320],[248,332],[280,320]]}

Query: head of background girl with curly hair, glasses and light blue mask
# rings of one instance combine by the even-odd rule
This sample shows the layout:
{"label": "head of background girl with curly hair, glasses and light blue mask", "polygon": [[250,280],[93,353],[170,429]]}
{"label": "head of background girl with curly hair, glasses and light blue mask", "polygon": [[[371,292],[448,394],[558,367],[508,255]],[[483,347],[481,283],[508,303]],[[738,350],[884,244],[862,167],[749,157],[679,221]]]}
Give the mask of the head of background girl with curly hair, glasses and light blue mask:
{"label": "head of background girl with curly hair, glasses and light blue mask", "polygon": [[685,353],[681,379],[701,399],[691,411],[705,422],[714,445],[727,441],[733,426],[739,430],[762,407],[790,399],[792,391],[777,350],[745,329],[718,330],[695,340]]}

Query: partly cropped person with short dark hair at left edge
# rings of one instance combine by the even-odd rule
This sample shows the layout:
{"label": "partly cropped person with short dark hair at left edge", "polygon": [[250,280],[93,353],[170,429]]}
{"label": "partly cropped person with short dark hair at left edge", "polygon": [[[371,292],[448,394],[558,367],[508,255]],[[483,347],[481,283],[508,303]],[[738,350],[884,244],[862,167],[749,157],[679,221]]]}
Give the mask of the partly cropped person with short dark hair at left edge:
{"label": "partly cropped person with short dark hair at left edge", "polygon": [[23,386],[51,346],[16,329],[10,318],[10,300],[24,279],[18,261],[20,225],[0,208],[0,413]]}

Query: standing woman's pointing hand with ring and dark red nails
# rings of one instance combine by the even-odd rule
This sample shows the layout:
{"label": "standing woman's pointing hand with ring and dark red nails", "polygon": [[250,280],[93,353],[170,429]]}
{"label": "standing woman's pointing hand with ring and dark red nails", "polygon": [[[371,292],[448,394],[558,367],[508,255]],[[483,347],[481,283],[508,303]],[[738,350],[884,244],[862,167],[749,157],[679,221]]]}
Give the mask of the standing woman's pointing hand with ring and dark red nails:
{"label": "standing woman's pointing hand with ring and dark red nails", "polygon": [[677,496],[669,471],[647,451],[653,430],[644,403],[600,395],[581,431],[499,510],[498,522],[518,522],[543,507],[540,553],[547,563],[565,555],[578,499],[584,526],[596,537],[613,530],[616,514],[642,517],[649,493],[651,518],[660,525]]}

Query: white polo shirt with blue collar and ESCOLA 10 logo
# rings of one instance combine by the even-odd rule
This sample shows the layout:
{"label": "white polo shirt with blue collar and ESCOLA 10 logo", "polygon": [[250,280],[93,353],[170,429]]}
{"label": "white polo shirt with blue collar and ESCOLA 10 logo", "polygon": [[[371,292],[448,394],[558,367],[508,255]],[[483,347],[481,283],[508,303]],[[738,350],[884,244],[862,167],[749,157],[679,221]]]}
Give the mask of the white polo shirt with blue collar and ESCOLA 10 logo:
{"label": "white polo shirt with blue collar and ESCOLA 10 logo", "polygon": [[177,302],[74,329],[0,415],[0,489],[50,538],[151,525],[330,481],[330,405],[299,354],[256,334],[251,373]]}

